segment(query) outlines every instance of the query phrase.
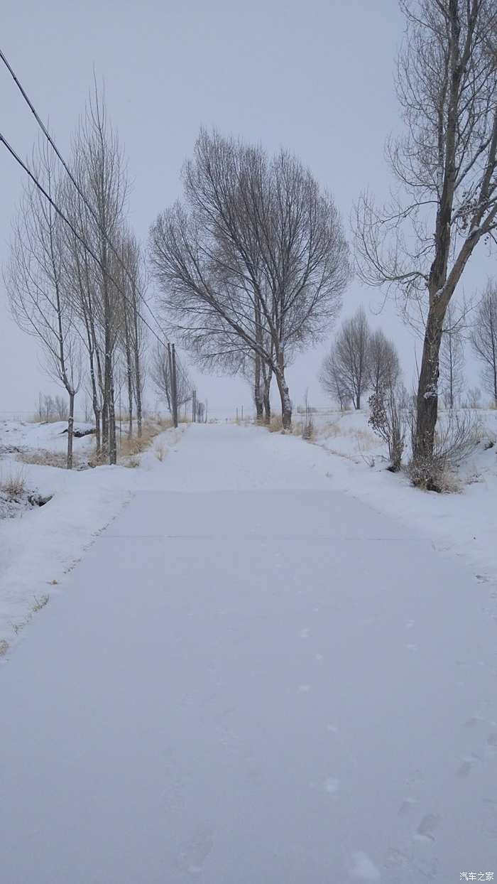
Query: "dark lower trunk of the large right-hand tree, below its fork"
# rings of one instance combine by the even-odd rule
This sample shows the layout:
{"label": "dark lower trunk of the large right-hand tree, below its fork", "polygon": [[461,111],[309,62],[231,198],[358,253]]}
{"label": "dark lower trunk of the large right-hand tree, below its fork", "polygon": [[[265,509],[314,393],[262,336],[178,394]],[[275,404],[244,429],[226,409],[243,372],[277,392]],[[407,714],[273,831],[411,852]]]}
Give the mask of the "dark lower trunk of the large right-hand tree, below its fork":
{"label": "dark lower trunk of the large right-hand tree, below its fork", "polygon": [[418,384],[416,439],[413,459],[429,466],[433,459],[438,417],[439,354],[445,308],[433,304],[428,313]]}

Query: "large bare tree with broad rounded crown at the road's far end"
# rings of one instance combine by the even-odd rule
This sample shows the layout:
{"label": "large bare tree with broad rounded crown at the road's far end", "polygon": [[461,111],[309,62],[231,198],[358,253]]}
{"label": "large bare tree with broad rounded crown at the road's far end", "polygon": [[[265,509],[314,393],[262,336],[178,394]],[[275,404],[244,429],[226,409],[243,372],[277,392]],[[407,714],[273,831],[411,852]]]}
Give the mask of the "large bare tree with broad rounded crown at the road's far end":
{"label": "large bare tree with broad rounded crown at the road's far end", "polygon": [[227,343],[259,354],[290,427],[288,360],[335,319],[350,273],[331,197],[285,151],[269,159],[202,131],[184,167],[184,205],[157,218],[150,246],[169,327],[193,354]]}

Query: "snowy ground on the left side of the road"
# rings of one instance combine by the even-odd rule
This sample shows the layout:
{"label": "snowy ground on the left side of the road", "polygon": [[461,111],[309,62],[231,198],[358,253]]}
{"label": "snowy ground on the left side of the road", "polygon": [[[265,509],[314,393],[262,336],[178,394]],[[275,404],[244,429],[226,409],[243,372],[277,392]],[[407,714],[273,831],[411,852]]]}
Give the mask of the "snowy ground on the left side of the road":
{"label": "snowy ground on the left side of the road", "polygon": [[[174,445],[176,431],[166,431],[154,439],[154,447],[141,456],[139,476],[124,466],[67,471],[53,467],[19,463],[16,453],[2,449],[64,453],[66,423],[0,422],[0,483],[20,472],[26,489],[53,495],[41,509],[24,502],[9,504],[8,516],[0,519],[0,648],[16,644],[30,621],[39,600],[63,587],[67,575],[94,537],[114,518],[131,498],[134,488],[153,481],[160,472],[155,456],[163,446]],[[85,424],[77,424],[83,428]],[[74,439],[74,451],[87,459],[93,451],[92,437]],[[6,508],[7,505],[5,505]],[[0,509],[1,509],[0,500]]]}

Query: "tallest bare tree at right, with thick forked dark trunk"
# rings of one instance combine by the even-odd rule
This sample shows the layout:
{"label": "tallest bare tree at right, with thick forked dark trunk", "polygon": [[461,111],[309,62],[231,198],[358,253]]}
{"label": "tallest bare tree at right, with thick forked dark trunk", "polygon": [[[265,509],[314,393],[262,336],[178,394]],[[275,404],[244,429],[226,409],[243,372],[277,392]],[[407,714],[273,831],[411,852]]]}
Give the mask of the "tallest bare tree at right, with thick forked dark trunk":
{"label": "tallest bare tree at right, with thick forked dark trunk", "polygon": [[388,143],[400,191],[357,210],[358,272],[425,321],[414,458],[433,457],[439,353],[448,303],[480,240],[497,225],[495,0],[400,0],[406,38],[397,95],[406,133]]}

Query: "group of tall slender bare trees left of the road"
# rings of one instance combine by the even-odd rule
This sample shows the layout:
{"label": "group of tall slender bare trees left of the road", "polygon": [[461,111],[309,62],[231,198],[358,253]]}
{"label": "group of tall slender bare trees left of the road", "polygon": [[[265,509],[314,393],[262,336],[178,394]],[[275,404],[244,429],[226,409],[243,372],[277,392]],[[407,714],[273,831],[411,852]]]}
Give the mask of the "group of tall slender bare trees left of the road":
{"label": "group of tall slender bare trees left of the road", "polygon": [[[39,141],[12,225],[4,282],[12,316],[41,343],[44,368],[67,394],[67,409],[57,397],[56,414],[67,411],[71,469],[74,402],[81,389],[92,403],[97,455],[117,462],[116,385],[122,377],[128,435],[136,424],[141,437],[151,330],[143,316],[146,255],[126,212],[124,151],[96,84],[72,137],[69,168],[68,175],[52,146]],[[179,360],[174,385],[166,342],[156,339],[152,377],[177,421],[192,385]],[[40,415],[53,414],[50,402],[45,397]]]}

